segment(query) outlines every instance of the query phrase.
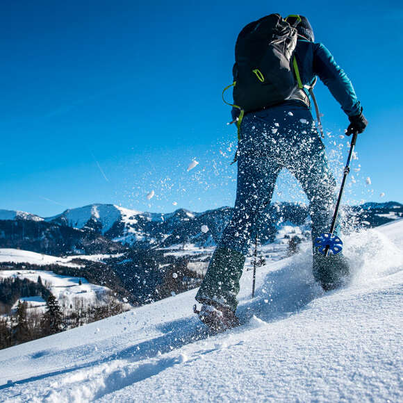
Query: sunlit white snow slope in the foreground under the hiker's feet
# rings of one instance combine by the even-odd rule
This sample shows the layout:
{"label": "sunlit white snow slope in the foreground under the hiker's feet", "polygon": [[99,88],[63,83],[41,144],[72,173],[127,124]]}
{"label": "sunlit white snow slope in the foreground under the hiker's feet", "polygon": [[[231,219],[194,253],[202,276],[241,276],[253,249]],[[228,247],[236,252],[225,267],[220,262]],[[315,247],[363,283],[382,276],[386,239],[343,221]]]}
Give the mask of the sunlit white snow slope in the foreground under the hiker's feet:
{"label": "sunlit white snow slope in the foreground under the hiker's feet", "polygon": [[[403,400],[403,220],[345,239],[354,276],[324,294],[309,248],[241,280],[242,326],[217,336],[195,290],[0,351],[5,402]],[[8,383],[8,381],[10,381]]]}

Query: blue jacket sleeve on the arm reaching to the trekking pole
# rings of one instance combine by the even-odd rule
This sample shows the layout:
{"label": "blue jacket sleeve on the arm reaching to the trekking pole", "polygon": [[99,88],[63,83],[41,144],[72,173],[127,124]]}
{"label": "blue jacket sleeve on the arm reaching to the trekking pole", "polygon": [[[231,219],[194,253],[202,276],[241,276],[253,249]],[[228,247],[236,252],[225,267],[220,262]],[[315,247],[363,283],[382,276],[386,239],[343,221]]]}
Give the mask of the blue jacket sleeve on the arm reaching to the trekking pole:
{"label": "blue jacket sleeve on the arm reaching to the trekking pole", "polygon": [[315,44],[313,72],[329,88],[331,94],[348,116],[359,115],[361,104],[356,97],[352,82],[336,63],[334,57],[323,44]]}

